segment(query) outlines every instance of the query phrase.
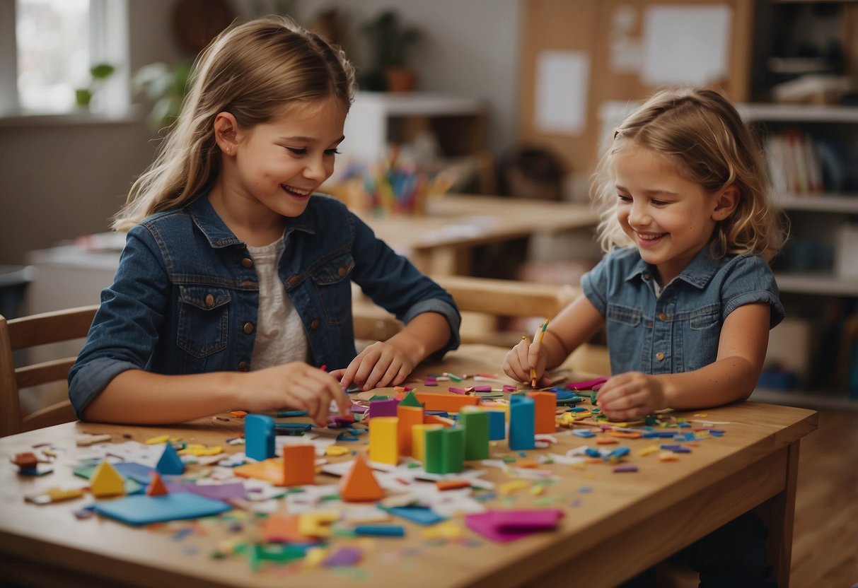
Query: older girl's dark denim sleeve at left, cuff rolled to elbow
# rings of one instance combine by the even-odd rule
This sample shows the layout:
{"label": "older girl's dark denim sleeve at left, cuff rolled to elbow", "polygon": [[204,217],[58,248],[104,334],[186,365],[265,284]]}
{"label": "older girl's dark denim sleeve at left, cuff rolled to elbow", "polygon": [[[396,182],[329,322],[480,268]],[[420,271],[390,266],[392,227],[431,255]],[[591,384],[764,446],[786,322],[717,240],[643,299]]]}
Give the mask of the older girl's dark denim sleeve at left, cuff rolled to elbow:
{"label": "older girl's dark denim sleeve at left, cuff rolled to elbow", "polygon": [[146,368],[158,341],[167,291],[160,249],[146,229],[135,227],[69,371],[69,400],[78,418],[117,375]]}

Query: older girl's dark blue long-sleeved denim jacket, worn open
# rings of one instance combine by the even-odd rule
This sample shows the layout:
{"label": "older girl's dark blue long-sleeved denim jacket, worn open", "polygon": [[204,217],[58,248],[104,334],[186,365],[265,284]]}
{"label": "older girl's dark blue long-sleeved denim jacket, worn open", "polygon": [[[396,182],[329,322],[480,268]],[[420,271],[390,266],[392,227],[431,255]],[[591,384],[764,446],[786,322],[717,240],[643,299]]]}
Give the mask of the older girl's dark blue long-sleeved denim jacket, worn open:
{"label": "older girl's dark blue long-sleeved denim jacket, worn open", "polygon": [[[461,316],[447,291],[396,255],[335,199],[313,195],[286,219],[280,278],[304,323],[313,361],[343,368],[354,347],[351,282],[408,323],[424,312],[447,319],[459,345]],[[157,213],[128,233],[113,285],[69,372],[78,417],[127,369],[165,374],[251,369],[259,305],[245,243],[205,195]]]}

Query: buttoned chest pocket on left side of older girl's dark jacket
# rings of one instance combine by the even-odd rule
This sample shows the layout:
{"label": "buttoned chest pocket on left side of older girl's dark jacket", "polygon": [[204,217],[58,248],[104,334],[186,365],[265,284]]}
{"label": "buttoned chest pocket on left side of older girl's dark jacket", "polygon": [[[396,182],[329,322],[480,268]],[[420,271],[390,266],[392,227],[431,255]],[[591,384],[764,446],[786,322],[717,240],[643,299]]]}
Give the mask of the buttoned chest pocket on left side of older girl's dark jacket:
{"label": "buttoned chest pocket on left side of older girl's dark jacket", "polygon": [[204,285],[180,285],[176,345],[193,357],[227,348],[230,292]]}

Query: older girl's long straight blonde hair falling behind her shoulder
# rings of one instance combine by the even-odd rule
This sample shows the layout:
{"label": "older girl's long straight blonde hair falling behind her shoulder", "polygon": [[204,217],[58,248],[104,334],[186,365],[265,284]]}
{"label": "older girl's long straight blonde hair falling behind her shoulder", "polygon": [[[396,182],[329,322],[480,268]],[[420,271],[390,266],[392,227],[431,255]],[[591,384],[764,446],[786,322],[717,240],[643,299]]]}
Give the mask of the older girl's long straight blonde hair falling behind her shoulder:
{"label": "older girl's long straight blonde hair falling behind her shoulder", "polygon": [[299,101],[334,96],[348,110],[355,87],[354,69],[339,48],[279,16],[228,27],[197,57],[189,83],[177,121],[113,219],[117,231],[184,206],[214,182],[221,167],[213,129],[219,112],[250,129]]}

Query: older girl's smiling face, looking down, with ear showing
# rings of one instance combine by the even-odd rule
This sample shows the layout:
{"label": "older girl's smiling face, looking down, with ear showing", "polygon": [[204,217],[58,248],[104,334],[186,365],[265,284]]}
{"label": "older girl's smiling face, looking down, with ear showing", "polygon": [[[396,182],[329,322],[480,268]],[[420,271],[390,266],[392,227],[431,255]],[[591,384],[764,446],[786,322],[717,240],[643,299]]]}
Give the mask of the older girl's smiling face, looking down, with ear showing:
{"label": "older girl's smiling face, looking down, with ear showing", "polygon": [[[218,179],[233,206],[297,217],[334,173],[346,107],[333,97],[291,105],[268,123],[241,129],[229,113],[215,119],[223,153]],[[219,129],[219,126],[221,127]],[[213,190],[214,192],[215,190]]]}

